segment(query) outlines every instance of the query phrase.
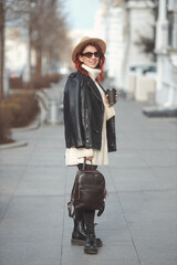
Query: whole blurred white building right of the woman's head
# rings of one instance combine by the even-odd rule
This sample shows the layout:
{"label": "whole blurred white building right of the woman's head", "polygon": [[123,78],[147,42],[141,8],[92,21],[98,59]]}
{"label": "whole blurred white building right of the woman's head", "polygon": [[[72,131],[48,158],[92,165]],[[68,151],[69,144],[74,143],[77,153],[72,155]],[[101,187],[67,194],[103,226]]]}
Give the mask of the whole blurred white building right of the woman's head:
{"label": "whole blurred white building right of the woman's head", "polygon": [[136,100],[177,105],[177,1],[102,0],[95,30],[113,85]]}

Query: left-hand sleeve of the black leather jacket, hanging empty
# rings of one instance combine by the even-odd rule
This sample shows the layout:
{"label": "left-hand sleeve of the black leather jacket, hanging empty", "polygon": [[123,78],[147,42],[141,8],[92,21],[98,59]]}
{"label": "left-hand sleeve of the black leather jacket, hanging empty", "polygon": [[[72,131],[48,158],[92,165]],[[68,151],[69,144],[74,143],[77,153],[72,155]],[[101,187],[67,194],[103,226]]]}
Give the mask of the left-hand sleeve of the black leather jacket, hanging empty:
{"label": "left-hand sleeve of the black leather jacket, hanging empty", "polygon": [[81,82],[70,75],[64,88],[64,125],[66,147],[83,147]]}

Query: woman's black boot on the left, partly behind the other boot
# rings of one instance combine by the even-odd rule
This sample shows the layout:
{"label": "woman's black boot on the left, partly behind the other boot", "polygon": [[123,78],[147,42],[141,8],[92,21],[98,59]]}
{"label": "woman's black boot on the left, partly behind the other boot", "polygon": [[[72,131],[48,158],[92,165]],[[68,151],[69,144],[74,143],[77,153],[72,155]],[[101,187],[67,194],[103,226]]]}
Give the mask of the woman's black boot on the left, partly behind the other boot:
{"label": "woman's black boot on the left, partly behind the other boot", "polygon": [[[71,244],[72,245],[85,245],[86,243],[86,230],[84,221],[77,221],[74,219],[74,229],[72,233]],[[103,245],[100,239],[96,239],[96,246],[101,247]]]}

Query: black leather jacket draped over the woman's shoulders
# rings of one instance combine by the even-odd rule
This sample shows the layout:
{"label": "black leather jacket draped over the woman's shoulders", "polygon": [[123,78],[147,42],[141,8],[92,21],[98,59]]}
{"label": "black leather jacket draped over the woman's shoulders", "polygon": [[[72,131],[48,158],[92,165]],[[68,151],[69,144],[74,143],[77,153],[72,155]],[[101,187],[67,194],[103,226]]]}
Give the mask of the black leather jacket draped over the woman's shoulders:
{"label": "black leather jacket draped over the woman's shoulders", "polygon": [[[64,88],[66,148],[101,150],[104,104],[91,77],[72,73]],[[106,121],[108,151],[116,151],[115,117]]]}

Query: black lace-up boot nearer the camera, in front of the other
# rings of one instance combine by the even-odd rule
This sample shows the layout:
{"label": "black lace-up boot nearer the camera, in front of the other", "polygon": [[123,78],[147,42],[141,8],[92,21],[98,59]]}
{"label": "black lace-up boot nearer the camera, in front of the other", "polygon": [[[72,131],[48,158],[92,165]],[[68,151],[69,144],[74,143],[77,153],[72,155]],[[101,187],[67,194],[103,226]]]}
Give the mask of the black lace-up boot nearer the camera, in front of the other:
{"label": "black lace-up boot nearer the camera, in front of the other", "polygon": [[94,224],[86,224],[86,243],[84,247],[85,254],[97,254]]}

